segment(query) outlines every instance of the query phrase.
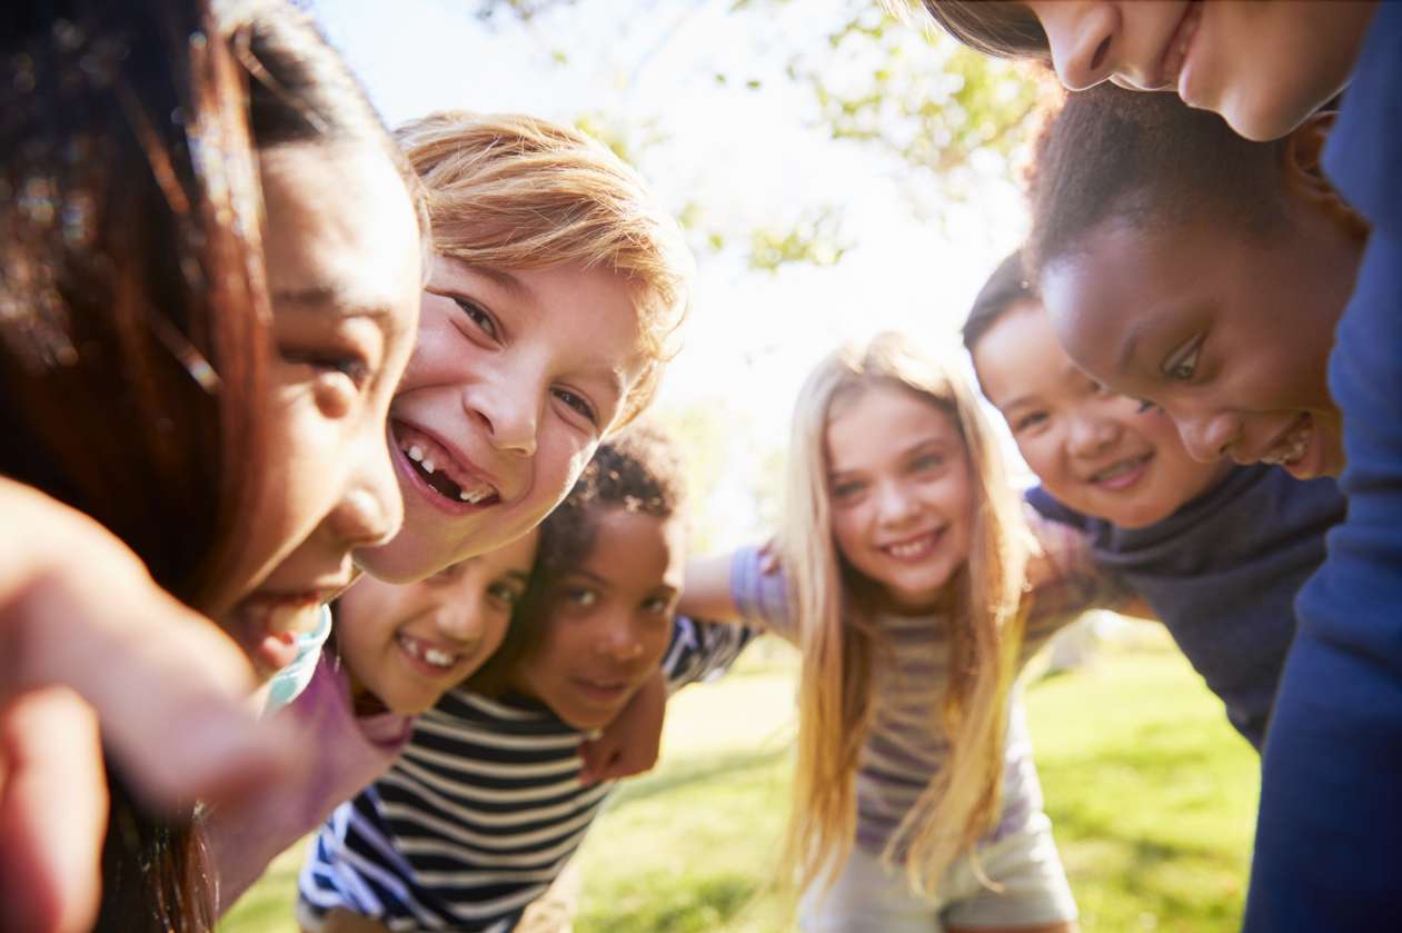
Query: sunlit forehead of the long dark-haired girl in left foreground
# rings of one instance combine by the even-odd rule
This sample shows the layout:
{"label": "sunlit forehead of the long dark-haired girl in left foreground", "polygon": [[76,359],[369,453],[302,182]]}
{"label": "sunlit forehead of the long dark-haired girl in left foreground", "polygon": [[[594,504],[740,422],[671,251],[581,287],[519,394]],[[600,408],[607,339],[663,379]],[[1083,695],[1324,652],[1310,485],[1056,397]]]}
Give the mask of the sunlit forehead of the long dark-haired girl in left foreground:
{"label": "sunlit forehead of the long dark-haired girl in left foreground", "polygon": [[[279,146],[259,153],[271,290],[409,317],[418,282],[414,206],[372,146]],[[348,192],[353,192],[348,194]]]}

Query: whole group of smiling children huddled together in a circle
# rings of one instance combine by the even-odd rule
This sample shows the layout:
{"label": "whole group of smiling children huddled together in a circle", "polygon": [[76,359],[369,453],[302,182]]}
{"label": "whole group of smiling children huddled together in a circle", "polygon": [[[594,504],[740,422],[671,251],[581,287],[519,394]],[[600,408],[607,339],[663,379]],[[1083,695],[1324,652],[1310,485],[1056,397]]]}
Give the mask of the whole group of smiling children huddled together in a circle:
{"label": "whole group of smiling children huddled together in a circle", "polygon": [[1396,11],[927,0],[1078,91],[963,330],[1039,485],[886,334],[802,387],[773,542],[688,561],[629,422],[690,257],[629,168],[391,136],[279,0],[114,6],[6,14],[6,930],[210,929],[310,832],[303,929],[516,929],[773,630],[801,926],[1067,933],[1016,680],[1091,608],[1263,749],[1248,930],[1385,925]]}

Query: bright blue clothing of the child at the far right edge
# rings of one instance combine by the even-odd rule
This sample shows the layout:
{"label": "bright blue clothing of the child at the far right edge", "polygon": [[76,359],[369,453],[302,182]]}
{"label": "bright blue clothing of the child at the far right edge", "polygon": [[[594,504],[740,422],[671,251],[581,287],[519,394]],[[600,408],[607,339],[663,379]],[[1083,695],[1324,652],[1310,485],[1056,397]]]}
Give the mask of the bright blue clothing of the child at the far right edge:
{"label": "bright blue clothing of the child at the far right edge", "polygon": [[1248,933],[1402,926],[1402,3],[1380,3],[1325,150],[1373,224],[1329,356],[1349,516],[1297,603],[1266,742]]}

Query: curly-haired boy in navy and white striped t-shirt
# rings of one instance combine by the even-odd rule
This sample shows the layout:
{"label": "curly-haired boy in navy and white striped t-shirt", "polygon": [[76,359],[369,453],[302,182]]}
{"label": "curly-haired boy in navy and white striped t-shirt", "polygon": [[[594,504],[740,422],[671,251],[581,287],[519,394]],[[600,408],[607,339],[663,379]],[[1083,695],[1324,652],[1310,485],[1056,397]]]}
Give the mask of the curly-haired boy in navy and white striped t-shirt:
{"label": "curly-haired boy in navy and white striped t-shirt", "polygon": [[676,689],[723,669],[751,637],[673,617],[680,488],[652,429],[629,428],[599,449],[541,528],[508,643],[322,826],[301,873],[304,929],[503,933],[550,887],[613,790],[582,780],[580,742],[655,682],[659,665]]}

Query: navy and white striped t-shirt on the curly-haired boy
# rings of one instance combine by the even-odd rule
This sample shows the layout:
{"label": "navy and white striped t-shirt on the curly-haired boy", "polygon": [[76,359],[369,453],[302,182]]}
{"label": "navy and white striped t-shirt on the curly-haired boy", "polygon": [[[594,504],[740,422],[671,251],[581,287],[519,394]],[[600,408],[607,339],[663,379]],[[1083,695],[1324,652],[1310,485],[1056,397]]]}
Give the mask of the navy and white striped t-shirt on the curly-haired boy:
{"label": "navy and white striped t-shirt on the curly-haired boy", "polygon": [[[725,671],[754,634],[677,617],[662,662],[669,689]],[[341,906],[394,930],[513,929],[613,790],[579,783],[586,738],[538,702],[449,692],[384,777],[317,833],[303,926]]]}

